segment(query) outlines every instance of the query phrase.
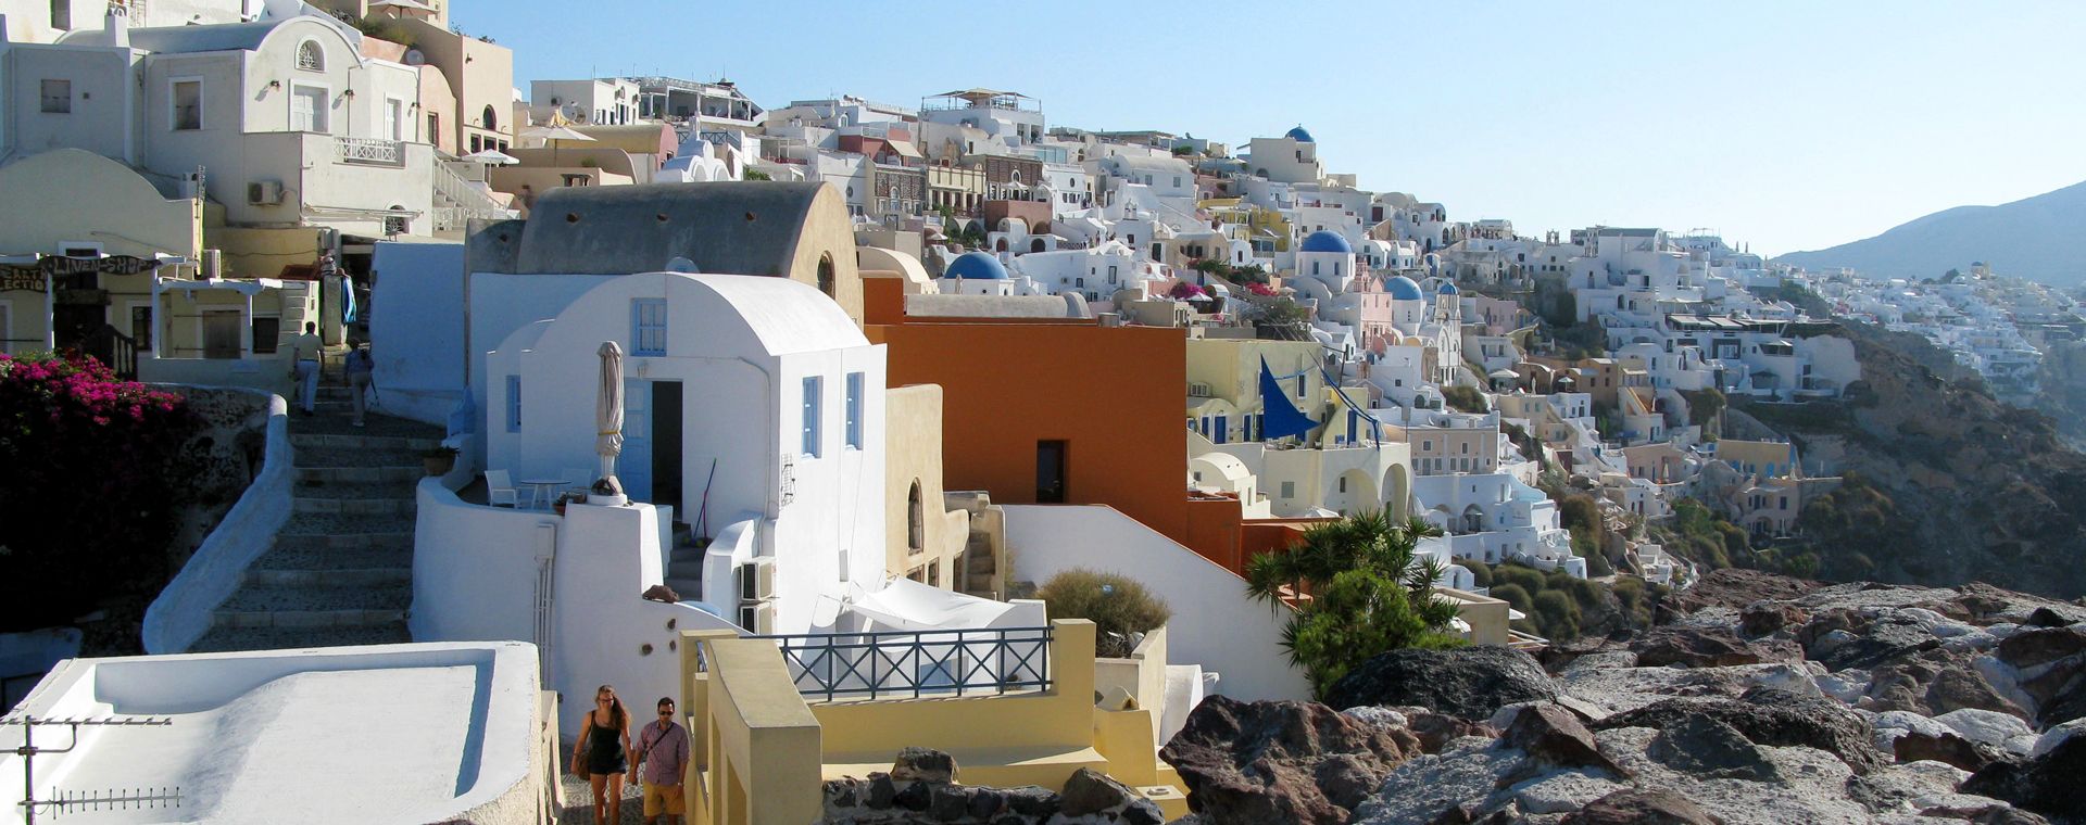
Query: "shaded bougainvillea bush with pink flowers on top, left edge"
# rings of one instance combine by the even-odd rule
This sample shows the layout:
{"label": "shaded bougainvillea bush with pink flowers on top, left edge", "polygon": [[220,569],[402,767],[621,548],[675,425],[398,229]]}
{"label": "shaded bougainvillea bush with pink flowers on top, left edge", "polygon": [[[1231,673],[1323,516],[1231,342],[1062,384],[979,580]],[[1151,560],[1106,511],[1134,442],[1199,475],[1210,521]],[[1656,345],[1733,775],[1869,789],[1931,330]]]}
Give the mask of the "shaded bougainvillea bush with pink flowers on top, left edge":
{"label": "shaded bougainvillea bush with pink flowers on top, left edge", "polygon": [[0,629],[65,623],[167,581],[186,400],[86,356],[0,354]]}

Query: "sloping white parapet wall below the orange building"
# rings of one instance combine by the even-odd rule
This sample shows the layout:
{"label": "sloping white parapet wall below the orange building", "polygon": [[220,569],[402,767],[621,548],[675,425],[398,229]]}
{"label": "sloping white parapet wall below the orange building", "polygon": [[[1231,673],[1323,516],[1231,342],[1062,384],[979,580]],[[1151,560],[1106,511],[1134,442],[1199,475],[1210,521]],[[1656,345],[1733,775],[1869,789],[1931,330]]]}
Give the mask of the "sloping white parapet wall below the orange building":
{"label": "sloping white parapet wall below the orange building", "polygon": [[1239,700],[1308,700],[1281,646],[1287,608],[1254,602],[1245,579],[1112,506],[1005,504],[1014,579],[1041,585],[1081,567],[1141,581],[1172,608],[1166,656],[1218,673]]}

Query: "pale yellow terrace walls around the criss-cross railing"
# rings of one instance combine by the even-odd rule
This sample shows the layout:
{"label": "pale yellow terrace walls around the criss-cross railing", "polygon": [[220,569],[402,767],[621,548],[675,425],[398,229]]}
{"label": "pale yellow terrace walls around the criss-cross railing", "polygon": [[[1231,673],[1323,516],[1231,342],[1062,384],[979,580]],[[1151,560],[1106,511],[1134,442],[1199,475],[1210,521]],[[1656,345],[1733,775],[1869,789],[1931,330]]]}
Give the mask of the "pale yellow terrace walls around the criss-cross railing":
{"label": "pale yellow terrace walls around the criss-cross railing", "polygon": [[[1020,633],[1028,635],[1016,640]],[[682,633],[680,706],[695,746],[682,785],[688,821],[818,821],[826,779],[889,771],[909,746],[953,756],[955,779],[966,785],[1056,790],[1074,771],[1093,769],[1156,802],[1166,819],[1187,815],[1179,773],[1158,758],[1162,698],[1139,696],[1147,683],[1164,685],[1164,642],[1160,650],[1141,646],[1141,658],[1097,660],[1095,625],[1083,619],[1053,621],[1047,631],[1010,629],[1005,638],[1014,642],[976,646],[993,660],[1047,648],[1047,671],[1020,671],[1041,679],[1005,692],[943,688],[916,698],[905,688],[903,698],[822,698],[801,692],[814,677],[791,665],[807,660],[807,650],[784,658],[770,638]],[[1099,681],[1101,669],[1110,683]],[[1095,688],[1103,685],[1097,704]]]}

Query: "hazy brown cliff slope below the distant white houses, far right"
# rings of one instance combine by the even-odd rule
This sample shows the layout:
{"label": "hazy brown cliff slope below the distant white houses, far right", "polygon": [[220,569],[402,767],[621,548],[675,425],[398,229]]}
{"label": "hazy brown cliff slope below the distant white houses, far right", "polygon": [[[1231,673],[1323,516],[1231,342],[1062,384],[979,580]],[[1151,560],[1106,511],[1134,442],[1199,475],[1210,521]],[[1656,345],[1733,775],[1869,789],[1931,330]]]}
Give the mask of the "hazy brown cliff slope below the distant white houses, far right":
{"label": "hazy brown cliff slope below the distant white houses, far right", "polygon": [[2086,456],[2038,413],[1992,400],[1917,335],[1850,325],[1863,379],[1844,402],[1748,404],[1809,473],[1848,473],[1884,500],[1836,496],[1804,519],[1827,579],[1990,581],[2086,594]]}

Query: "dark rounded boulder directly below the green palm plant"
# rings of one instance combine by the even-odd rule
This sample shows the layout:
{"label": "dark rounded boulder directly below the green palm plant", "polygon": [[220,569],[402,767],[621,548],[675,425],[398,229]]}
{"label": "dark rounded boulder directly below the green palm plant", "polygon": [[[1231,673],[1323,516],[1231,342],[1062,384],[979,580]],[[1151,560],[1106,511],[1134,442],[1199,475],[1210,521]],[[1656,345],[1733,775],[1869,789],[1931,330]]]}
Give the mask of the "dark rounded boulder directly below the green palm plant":
{"label": "dark rounded boulder directly below the green palm plant", "polygon": [[1487,719],[1514,702],[1548,702],[1556,685],[1529,654],[1502,646],[1391,650],[1327,692],[1327,704],[1418,704],[1462,719]]}

